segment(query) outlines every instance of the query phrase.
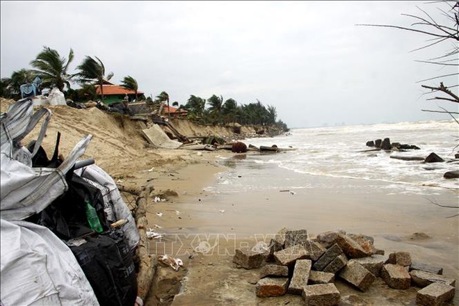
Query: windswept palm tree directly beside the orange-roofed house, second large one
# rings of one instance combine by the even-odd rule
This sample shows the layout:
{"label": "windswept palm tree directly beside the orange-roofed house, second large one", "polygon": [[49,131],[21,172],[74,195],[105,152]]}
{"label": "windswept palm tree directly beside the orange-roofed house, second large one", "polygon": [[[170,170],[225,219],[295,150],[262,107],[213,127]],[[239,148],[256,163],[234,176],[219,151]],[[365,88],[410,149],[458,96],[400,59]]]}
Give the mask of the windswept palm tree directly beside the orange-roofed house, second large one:
{"label": "windswept palm tree directly beside the orange-roofed house, second large one", "polygon": [[77,70],[80,70],[75,77],[79,78],[79,83],[95,83],[100,86],[100,93],[102,95],[102,101],[104,101],[104,80],[109,80],[113,77],[113,72],[110,72],[105,77],[105,66],[97,56],[94,58],[86,56],[83,63],[77,66]]}

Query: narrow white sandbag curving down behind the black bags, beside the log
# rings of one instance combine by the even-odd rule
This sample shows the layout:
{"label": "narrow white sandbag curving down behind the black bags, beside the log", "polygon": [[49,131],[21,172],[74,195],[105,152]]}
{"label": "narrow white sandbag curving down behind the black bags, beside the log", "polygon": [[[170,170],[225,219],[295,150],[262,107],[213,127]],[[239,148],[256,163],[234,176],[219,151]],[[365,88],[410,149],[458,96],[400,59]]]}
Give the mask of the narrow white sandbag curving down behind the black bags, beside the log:
{"label": "narrow white sandbag curving down behind the black bags, beside the log", "polygon": [[134,217],[132,216],[131,211],[127,207],[126,203],[124,200],[122,200],[121,193],[118,190],[118,186],[116,186],[115,181],[113,181],[107,172],[95,164],[77,169],[75,170],[75,173],[85,179],[90,179],[91,181],[105,187],[102,190],[99,188],[99,190],[102,192],[102,195],[104,196],[104,202],[108,198],[109,203],[104,203],[104,207],[111,205],[113,208],[113,215],[115,220],[127,220],[127,223],[121,227],[121,230],[124,232],[124,236],[127,239],[129,249],[134,250],[138,244],[138,241],[140,240],[136,221],[134,220]]}

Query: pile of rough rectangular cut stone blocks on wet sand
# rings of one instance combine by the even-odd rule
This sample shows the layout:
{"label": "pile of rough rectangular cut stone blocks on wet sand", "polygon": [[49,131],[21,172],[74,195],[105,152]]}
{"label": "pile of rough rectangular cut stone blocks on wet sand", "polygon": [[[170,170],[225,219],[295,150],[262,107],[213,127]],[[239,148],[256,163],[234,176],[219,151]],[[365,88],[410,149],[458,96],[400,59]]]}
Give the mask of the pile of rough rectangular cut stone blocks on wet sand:
{"label": "pile of rough rectangular cut stone blocks on wet sand", "polygon": [[264,249],[237,249],[233,262],[246,269],[261,268],[257,296],[300,294],[306,305],[337,305],[341,296],[335,277],[360,291],[367,291],[376,277],[394,289],[414,284],[423,288],[417,292],[417,305],[444,305],[453,299],[456,280],[442,275],[442,268],[412,263],[409,252],[385,255],[373,242],[370,236],[342,230],[309,239],[307,230],[283,228]]}

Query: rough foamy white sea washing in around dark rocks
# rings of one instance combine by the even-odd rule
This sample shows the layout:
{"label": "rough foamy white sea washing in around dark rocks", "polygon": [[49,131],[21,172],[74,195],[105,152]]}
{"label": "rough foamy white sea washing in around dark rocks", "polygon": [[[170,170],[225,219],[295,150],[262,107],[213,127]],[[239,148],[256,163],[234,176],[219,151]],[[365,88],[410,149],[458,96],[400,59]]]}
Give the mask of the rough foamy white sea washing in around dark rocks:
{"label": "rough foamy white sea washing in around dark rocks", "polygon": [[[384,138],[389,138],[391,143],[416,145],[419,150],[376,151],[366,145],[369,140]],[[459,191],[459,179],[443,177],[447,171],[459,170],[459,161],[454,160],[454,155],[459,152],[456,147],[459,144],[459,124],[454,120],[291,129],[282,136],[242,141],[257,147],[277,145],[289,151],[274,154],[249,152],[231,159],[222,157],[220,162],[229,170],[220,173],[216,184],[207,187],[207,191],[242,193],[274,188],[295,192],[301,188],[313,188],[316,183],[310,178],[314,176],[345,178],[350,187],[353,182],[366,180],[369,184],[374,182],[375,188],[387,188],[391,193],[430,194],[440,188],[452,191],[457,198]],[[431,152],[445,162],[391,158],[425,158]],[[276,168],[291,172],[294,182],[285,176],[276,179]],[[306,176],[309,179],[301,179]],[[332,182],[329,180],[326,184]],[[342,184],[343,181],[336,182]]]}

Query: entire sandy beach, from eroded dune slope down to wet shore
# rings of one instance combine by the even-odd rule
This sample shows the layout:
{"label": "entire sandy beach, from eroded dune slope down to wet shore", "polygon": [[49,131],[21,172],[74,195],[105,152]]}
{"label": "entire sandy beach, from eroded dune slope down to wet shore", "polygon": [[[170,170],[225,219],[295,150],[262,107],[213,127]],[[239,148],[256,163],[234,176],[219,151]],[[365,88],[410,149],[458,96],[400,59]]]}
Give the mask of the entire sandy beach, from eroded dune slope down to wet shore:
{"label": "entire sandy beach, from eroded dune slope down to wet shore", "polygon": [[[3,100],[1,106],[4,111]],[[272,166],[241,168],[239,161],[247,158],[243,154],[150,147],[138,132],[139,122],[107,115],[97,108],[56,106],[51,110],[54,114],[43,142],[47,152],[54,149],[57,131],[63,133],[63,156],[82,136],[92,134],[83,159],[95,158],[120,189],[154,188],[147,200],[148,227],[166,236],[161,241],[150,240],[150,254],[172,255],[182,259],[184,266],[176,272],[160,265],[145,305],[303,303],[300,296],[293,295],[257,298],[255,283],[259,269],[247,271],[232,264],[235,248],[267,241],[282,227],[305,229],[311,238],[339,229],[373,236],[376,247],[386,254],[408,251],[414,261],[443,267],[444,275],[458,278],[459,219],[447,218],[455,211],[430,202],[454,204],[457,191],[432,187],[432,197],[394,194],[384,182],[318,175],[300,177]],[[36,138],[37,130],[24,143]],[[268,145],[271,142],[266,140]],[[220,192],[219,178],[228,171],[240,180],[240,190]],[[266,177],[283,182],[282,190],[244,191],[244,184],[249,182],[245,179],[262,186]],[[288,187],[300,185],[305,188]],[[124,195],[129,206],[133,199]],[[154,202],[156,197],[165,201]],[[210,249],[196,252],[200,246]],[[380,280],[366,293],[339,280],[337,287],[341,296],[362,301],[359,305],[415,305],[417,292],[414,287],[404,291],[387,289]],[[458,301],[456,289],[452,305],[458,305]]]}

